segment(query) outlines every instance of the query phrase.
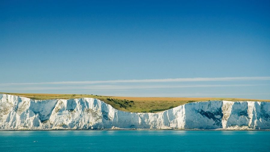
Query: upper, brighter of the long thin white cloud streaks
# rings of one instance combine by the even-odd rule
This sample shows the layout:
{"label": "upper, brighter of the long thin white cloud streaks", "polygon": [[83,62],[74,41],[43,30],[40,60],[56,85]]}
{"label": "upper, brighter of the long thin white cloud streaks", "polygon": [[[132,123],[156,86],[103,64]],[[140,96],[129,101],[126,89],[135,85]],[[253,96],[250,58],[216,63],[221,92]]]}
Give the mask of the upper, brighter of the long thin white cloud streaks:
{"label": "upper, brighter of the long thin white cloud streaks", "polygon": [[256,77],[214,77],[214,78],[175,78],[175,79],[130,79],[130,80],[105,80],[105,81],[59,81],[59,82],[35,82],[35,83],[1,83],[1,86],[9,85],[87,85],[101,83],[152,83],[152,82],[210,82],[210,81],[263,81],[270,80],[270,76]]}

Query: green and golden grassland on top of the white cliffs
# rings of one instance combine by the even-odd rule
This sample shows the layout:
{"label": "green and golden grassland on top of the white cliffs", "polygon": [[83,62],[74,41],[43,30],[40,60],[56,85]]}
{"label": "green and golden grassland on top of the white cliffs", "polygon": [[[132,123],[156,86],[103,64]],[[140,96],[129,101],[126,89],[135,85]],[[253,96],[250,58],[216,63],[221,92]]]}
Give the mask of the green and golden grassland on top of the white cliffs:
{"label": "green and golden grassland on top of the white cliffs", "polygon": [[115,97],[98,96],[93,94],[21,94],[21,93],[2,93],[16,96],[27,97],[35,100],[48,99],[74,99],[74,98],[97,98],[115,109],[127,112],[159,112],[168,110],[186,103],[208,101],[208,100],[228,100],[228,101],[267,101],[243,98],[171,98],[171,97]]}

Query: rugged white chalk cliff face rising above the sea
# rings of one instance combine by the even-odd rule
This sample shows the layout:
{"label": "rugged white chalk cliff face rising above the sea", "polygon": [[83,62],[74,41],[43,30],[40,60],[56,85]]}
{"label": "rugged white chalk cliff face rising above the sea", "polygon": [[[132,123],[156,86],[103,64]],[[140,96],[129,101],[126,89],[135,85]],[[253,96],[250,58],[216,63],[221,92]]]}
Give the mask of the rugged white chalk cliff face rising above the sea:
{"label": "rugged white chalk cliff face rising above the sea", "polygon": [[270,102],[207,101],[158,113],[123,112],[95,98],[0,94],[1,129],[270,129]]}

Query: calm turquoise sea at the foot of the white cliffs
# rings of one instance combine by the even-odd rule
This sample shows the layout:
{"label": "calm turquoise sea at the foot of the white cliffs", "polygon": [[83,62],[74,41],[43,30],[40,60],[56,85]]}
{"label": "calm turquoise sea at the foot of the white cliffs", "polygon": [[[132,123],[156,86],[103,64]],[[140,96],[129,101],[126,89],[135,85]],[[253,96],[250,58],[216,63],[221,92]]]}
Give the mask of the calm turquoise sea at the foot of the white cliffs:
{"label": "calm turquoise sea at the foot of the white cliffs", "polygon": [[270,131],[0,131],[0,151],[269,152]]}

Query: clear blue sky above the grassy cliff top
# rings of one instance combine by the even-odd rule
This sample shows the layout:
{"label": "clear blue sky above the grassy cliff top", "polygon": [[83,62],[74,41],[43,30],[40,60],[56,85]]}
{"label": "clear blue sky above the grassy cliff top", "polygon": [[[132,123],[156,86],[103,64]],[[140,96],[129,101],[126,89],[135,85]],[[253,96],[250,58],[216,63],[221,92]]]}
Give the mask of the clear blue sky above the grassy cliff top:
{"label": "clear blue sky above the grassy cliff top", "polygon": [[[1,1],[0,91],[270,99],[269,7],[269,1]],[[176,78],[221,79],[129,81]]]}

